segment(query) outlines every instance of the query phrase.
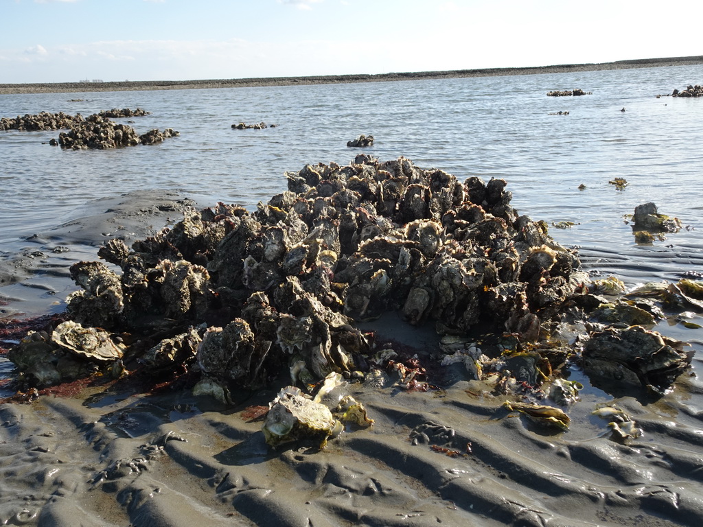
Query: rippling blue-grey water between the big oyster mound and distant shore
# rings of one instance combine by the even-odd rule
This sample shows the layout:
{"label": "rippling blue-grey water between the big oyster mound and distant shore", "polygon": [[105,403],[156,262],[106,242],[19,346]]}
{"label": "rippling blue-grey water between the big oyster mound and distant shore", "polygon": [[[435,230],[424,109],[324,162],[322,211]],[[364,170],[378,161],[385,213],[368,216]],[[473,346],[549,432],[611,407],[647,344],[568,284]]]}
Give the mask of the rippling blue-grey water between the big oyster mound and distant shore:
{"label": "rippling blue-grey water between the big oyster mound and distant shore", "polygon": [[[346,164],[360,152],[404,156],[423,168],[505,178],[520,214],[579,247],[594,275],[628,284],[703,271],[703,99],[668,94],[703,79],[703,66],[530,74],[511,77],[247,87],[0,95],[0,117],[41,111],[84,116],[143,108],[138,134],[180,132],[158,145],[62,150],[59,131],[0,132],[0,258],[27,238],[85,216],[96,198],[176,190],[202,206],[254,209],[286,188],[285,171]],[[548,97],[552,90],[588,95]],[[624,111],[623,111],[624,110]],[[568,115],[554,115],[569,112]],[[276,124],[262,130],[232,124]],[[347,148],[360,134],[370,148]],[[625,178],[624,190],[610,184]],[[583,190],[579,186],[585,186]],[[654,202],[684,228],[638,244],[628,225]],[[563,224],[562,224],[563,225]],[[0,288],[0,293],[2,289]]]}

